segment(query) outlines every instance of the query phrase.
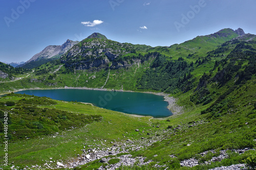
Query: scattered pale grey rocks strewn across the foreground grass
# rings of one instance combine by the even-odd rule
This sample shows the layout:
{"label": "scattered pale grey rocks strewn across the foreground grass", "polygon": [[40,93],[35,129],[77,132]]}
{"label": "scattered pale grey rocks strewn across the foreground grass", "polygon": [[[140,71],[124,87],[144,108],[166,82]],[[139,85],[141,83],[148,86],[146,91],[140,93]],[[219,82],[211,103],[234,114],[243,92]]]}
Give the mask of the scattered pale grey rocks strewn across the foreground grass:
{"label": "scattered pale grey rocks strewn across the foreground grass", "polygon": [[[196,126],[197,124],[202,124],[202,123],[203,122],[194,123],[194,126]],[[183,128],[182,126],[178,126],[174,129],[182,129],[182,128]],[[137,131],[137,130],[135,130],[135,131]],[[61,161],[53,162],[50,160],[50,161],[47,161],[43,167],[35,165],[32,167],[27,167],[26,169],[74,168],[76,166],[84,165],[86,163],[92,162],[94,160],[99,160],[102,163],[107,163],[112,158],[118,158],[118,159],[120,159],[120,161],[115,164],[106,165],[105,167],[101,166],[99,169],[105,169],[105,168],[116,169],[116,168],[120,167],[121,165],[127,165],[127,166],[134,165],[134,164],[145,165],[145,164],[152,162],[152,160],[148,160],[147,162],[144,162],[144,160],[145,160],[144,157],[133,158],[132,155],[130,155],[129,153],[131,151],[143,150],[143,149],[149,147],[150,145],[152,145],[154,142],[163,140],[165,138],[164,134],[170,134],[170,133],[173,133],[173,131],[174,130],[170,130],[170,129],[164,130],[164,131],[159,129],[156,131],[156,133],[160,134],[160,136],[156,136],[155,134],[148,134],[150,137],[148,137],[148,138],[141,137],[141,139],[138,139],[138,140],[134,140],[133,138],[126,139],[123,142],[116,142],[115,140],[113,140],[111,142],[111,144],[113,144],[112,147],[105,147],[104,141],[101,142],[101,144],[96,144],[96,145],[87,145],[86,143],[84,143],[84,147],[81,148],[81,151],[83,151],[83,154],[81,154],[81,155],[78,154],[77,158],[70,160],[68,163],[64,163]],[[141,133],[145,133],[145,132],[142,131]],[[89,147],[90,149],[86,150],[85,146]],[[242,154],[247,150],[250,150],[250,149],[246,148],[246,149],[232,150],[232,151]],[[223,150],[217,154],[213,150],[200,153],[199,155],[201,155],[201,157],[208,154],[209,152],[217,155],[217,156],[212,157],[211,160],[205,161],[203,163],[201,162],[201,163],[202,164],[210,164],[211,162],[221,161],[222,159],[225,159],[228,157],[227,151],[228,150]],[[117,154],[119,154],[119,156]],[[111,157],[109,157],[109,156],[111,156]],[[157,155],[155,155],[155,156],[157,156]],[[170,157],[175,157],[175,155],[170,155]],[[198,160],[196,158],[191,158],[191,159],[181,161],[180,165],[186,166],[186,167],[193,167],[193,166],[198,165],[199,161],[200,160]],[[168,169],[168,167],[166,165],[160,166],[160,165],[156,164],[155,167],[165,167],[166,169]],[[217,167],[212,170],[246,169],[244,167],[245,167],[245,164],[237,164],[237,165],[231,165],[231,166],[226,166],[226,167]],[[19,169],[19,168],[13,166],[11,169]]]}

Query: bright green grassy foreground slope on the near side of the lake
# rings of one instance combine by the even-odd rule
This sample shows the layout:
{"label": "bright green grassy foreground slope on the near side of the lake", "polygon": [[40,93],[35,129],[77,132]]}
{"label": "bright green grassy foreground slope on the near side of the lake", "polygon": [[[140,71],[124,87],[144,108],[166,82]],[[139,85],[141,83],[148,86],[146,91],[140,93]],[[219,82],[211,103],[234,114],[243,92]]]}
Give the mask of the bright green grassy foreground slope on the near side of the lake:
{"label": "bright green grassy foreground slope on the near side of the lake", "polygon": [[[247,88],[252,88],[254,83],[248,81]],[[237,98],[238,101],[248,99],[250,92],[241,89],[244,94],[238,95],[239,90],[233,91],[233,95],[229,97]],[[190,107],[181,115],[152,119],[92,105],[53,101],[23,94],[3,96],[0,102],[1,120],[3,121],[3,112],[9,113],[9,161],[19,167],[41,165],[47,168],[47,162],[50,167],[57,167],[56,162],[67,164],[82,154],[90,154],[88,151],[94,148],[109,153],[108,148],[113,146],[115,149],[111,151],[120,154],[107,154],[106,158],[114,159],[122,154],[143,156],[146,161],[152,161],[145,167],[152,169],[156,168],[155,164],[165,165],[160,169],[165,169],[166,166],[181,168],[180,162],[194,157],[202,163],[194,169],[228,166],[244,161],[251,163],[249,159],[253,159],[255,154],[253,150],[243,154],[233,151],[255,147],[256,107],[248,103],[240,103],[241,107],[233,106],[226,114],[217,117],[212,117],[211,113],[200,114],[202,107]],[[136,129],[139,131],[135,131]],[[4,133],[2,141],[3,135]],[[3,144],[1,149],[4,149]],[[205,161],[219,156],[220,151],[227,149],[227,158],[204,165]],[[200,155],[205,151],[216,153]],[[2,152],[1,157],[3,154]],[[171,158],[170,155],[174,157]],[[101,158],[96,159],[76,169],[107,165],[99,163],[100,160]],[[135,167],[129,167],[132,168]]]}

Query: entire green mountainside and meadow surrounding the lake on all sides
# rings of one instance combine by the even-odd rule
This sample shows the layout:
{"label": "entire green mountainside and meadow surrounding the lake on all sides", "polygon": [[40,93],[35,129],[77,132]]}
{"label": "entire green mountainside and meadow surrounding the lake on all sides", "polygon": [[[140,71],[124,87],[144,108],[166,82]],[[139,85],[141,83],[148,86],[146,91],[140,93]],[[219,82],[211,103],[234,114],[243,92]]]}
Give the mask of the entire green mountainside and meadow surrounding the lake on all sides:
{"label": "entire green mountainside and meadow surrounding the lake on all sides", "polygon": [[[133,165],[119,169],[210,169],[240,163],[255,168],[254,38],[231,29],[170,47],[89,38],[28,75],[14,74],[20,79],[3,80],[2,94],[65,86],[153,91],[173,96],[183,110],[166,118],[138,117],[9,93],[0,98],[2,129],[5,112],[9,121],[8,167],[97,169],[129,157]],[[188,160],[197,163],[190,167]]]}

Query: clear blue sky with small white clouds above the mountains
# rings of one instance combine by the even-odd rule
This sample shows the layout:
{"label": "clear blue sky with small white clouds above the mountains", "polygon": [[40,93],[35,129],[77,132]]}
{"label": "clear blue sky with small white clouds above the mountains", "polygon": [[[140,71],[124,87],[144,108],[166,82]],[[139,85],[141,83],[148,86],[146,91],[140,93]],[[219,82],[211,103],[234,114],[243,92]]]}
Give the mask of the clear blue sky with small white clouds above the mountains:
{"label": "clear blue sky with small white clouds above the mountains", "polygon": [[256,34],[255,0],[4,0],[0,61],[27,61],[48,45],[94,32],[118,42],[169,46],[224,28]]}

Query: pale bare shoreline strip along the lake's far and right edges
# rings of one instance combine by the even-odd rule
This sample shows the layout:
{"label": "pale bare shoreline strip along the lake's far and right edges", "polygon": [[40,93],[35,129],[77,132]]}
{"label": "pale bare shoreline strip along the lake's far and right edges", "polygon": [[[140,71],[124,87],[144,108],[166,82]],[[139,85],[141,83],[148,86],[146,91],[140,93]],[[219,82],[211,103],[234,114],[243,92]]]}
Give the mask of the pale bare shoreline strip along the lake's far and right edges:
{"label": "pale bare shoreline strip along the lake's far and right edges", "polygon": [[[183,113],[183,106],[179,106],[177,105],[177,100],[176,98],[174,98],[173,96],[169,96],[170,94],[166,94],[164,92],[150,92],[150,91],[131,91],[131,90],[116,90],[116,89],[106,89],[106,88],[91,88],[91,87],[56,87],[56,88],[24,88],[24,89],[16,89],[13,91],[9,91],[6,93],[2,93],[0,95],[4,95],[4,94],[8,94],[10,92],[18,92],[18,91],[23,91],[23,90],[53,90],[53,89],[82,89],[82,90],[101,90],[101,91],[123,91],[123,92],[141,92],[141,93],[150,93],[150,94],[155,94],[155,95],[161,95],[164,97],[164,101],[168,102],[168,106],[167,108],[173,113],[170,116],[173,115],[179,115]],[[140,116],[140,115],[135,115],[135,114],[131,114],[134,116]],[[168,117],[170,117],[168,116]],[[168,117],[163,117],[163,118],[168,118]]]}

